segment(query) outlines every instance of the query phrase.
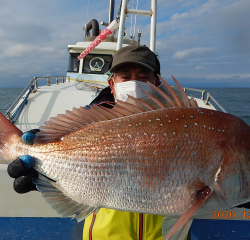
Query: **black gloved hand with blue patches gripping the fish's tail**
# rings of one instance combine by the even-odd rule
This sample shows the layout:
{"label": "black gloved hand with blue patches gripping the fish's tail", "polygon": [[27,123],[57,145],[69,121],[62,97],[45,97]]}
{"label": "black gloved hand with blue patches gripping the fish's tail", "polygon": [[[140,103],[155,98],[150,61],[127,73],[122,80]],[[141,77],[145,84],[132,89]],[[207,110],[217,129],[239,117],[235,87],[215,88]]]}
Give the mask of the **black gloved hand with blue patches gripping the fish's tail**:
{"label": "black gloved hand with blue patches gripping the fish's tail", "polygon": [[[32,129],[22,135],[22,141],[32,145],[36,133],[39,129]],[[34,160],[29,155],[23,155],[17,158],[8,166],[8,174],[15,178],[13,188],[17,193],[27,193],[32,190],[37,190],[36,185],[32,182],[32,178],[37,177],[37,172],[32,168]]]}

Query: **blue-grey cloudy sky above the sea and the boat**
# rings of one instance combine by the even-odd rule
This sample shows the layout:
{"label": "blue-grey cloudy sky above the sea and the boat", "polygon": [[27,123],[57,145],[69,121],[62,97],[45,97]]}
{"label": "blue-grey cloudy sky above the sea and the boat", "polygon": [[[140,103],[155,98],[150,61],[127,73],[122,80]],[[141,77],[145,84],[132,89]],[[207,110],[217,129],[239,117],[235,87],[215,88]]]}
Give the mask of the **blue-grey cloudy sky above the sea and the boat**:
{"label": "blue-grey cloudy sky above the sea and the boat", "polygon": [[[66,75],[67,46],[83,40],[91,19],[108,22],[109,0],[0,2],[0,87]],[[139,1],[138,9],[150,10],[150,2]],[[129,8],[136,4],[130,0]],[[173,74],[185,87],[250,88],[249,12],[249,0],[158,0],[156,53],[162,77],[171,81]],[[128,36],[134,32],[131,21],[133,26],[129,15]],[[136,35],[138,29],[141,44],[149,46],[150,17],[137,16]]]}

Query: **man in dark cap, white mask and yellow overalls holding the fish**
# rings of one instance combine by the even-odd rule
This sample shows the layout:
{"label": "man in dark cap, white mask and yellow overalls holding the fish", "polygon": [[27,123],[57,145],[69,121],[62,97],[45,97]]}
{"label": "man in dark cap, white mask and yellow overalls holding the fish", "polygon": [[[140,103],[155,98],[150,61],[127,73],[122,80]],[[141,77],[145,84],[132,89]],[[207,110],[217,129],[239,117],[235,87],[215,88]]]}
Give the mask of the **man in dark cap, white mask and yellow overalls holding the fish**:
{"label": "man in dark cap, white mask and yellow overalls holding the fish", "polygon": [[[95,104],[111,107],[107,103],[115,102],[116,99],[126,101],[127,94],[143,98],[145,94],[140,89],[148,91],[147,81],[156,86],[160,84],[157,76],[160,75],[160,63],[155,54],[145,46],[129,46],[118,50],[109,65],[109,72],[110,87],[105,88],[86,108]],[[35,133],[36,131],[24,134],[25,142],[31,143]],[[31,181],[36,175],[35,171],[31,168],[28,173],[25,172],[27,163],[29,166],[32,165],[30,161],[30,156],[21,156],[9,165],[10,176],[16,178],[14,189],[17,192],[35,189]],[[163,217],[101,208],[97,213],[87,217],[84,224],[75,225],[73,239],[160,240]]]}

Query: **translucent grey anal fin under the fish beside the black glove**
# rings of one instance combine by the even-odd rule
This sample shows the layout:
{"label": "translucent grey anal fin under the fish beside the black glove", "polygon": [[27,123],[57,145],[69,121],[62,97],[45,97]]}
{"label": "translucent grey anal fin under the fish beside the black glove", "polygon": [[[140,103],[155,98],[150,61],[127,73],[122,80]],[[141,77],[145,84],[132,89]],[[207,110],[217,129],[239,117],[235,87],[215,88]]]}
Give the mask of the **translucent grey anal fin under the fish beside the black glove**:
{"label": "translucent grey anal fin under the fish beside the black glove", "polygon": [[84,205],[72,200],[56,187],[56,183],[39,174],[33,179],[37,190],[41,192],[45,201],[50,207],[55,209],[62,217],[74,217],[78,222],[85,219],[93,212],[98,212],[99,208]]}

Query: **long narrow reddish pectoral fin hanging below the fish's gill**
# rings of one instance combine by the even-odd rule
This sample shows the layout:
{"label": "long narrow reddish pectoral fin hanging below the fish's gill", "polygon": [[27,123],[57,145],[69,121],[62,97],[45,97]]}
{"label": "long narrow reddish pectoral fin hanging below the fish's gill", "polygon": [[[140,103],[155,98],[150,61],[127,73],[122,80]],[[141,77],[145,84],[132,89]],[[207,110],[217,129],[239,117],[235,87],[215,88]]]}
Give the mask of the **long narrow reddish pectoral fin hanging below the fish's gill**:
{"label": "long narrow reddish pectoral fin hanging below the fish's gill", "polygon": [[[170,231],[166,234],[163,240],[170,239],[183,225],[185,225],[196,210],[207,200],[207,198],[211,195],[212,191],[209,187],[204,188],[197,196],[197,200],[195,203],[182,214],[182,216],[176,221]],[[164,236],[164,235],[163,235]],[[172,238],[171,238],[172,240]]]}

